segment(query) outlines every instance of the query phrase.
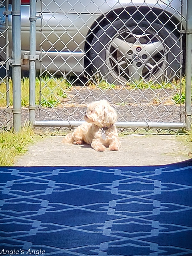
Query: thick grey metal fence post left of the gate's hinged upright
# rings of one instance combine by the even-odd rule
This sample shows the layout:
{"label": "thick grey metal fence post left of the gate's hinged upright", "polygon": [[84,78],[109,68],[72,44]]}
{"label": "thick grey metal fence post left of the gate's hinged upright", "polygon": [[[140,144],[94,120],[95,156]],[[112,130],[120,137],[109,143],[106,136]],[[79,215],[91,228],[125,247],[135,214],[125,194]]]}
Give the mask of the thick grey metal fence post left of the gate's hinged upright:
{"label": "thick grey metal fence post left of the gate's hinged upright", "polygon": [[21,12],[20,0],[12,1],[13,128],[21,129]]}

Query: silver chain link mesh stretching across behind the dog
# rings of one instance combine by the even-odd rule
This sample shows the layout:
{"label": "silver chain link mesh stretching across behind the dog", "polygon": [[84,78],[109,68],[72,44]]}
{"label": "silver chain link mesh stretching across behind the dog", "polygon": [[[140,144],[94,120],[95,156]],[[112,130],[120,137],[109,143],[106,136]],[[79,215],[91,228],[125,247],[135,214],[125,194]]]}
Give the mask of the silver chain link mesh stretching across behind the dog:
{"label": "silver chain link mesh stretching across behind the dog", "polygon": [[[35,93],[29,99],[35,126],[76,126],[86,105],[100,99],[116,108],[119,127],[185,126],[185,0],[37,0],[35,5],[35,17],[29,5],[21,8],[21,57],[36,63],[30,87]],[[34,21],[32,55],[26,28]],[[0,35],[7,42],[0,46],[4,52],[8,28]],[[27,71],[29,66],[21,67]],[[0,97],[8,97],[6,92],[1,90]],[[7,99],[0,116],[9,108]],[[26,116],[28,108],[22,113]]]}

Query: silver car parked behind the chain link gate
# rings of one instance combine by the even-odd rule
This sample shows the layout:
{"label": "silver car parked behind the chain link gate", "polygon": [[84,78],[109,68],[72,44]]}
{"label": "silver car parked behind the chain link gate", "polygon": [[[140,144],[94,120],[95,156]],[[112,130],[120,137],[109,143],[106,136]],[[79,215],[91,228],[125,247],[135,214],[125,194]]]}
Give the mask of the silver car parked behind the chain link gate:
{"label": "silver car parked behind the chain link gate", "polygon": [[[1,32],[4,11],[2,5]],[[37,0],[36,69],[65,76],[99,74],[115,84],[173,79],[181,64],[185,0],[183,27],[180,13],[181,0]],[[29,54],[28,18],[29,1],[21,0],[22,55]],[[5,60],[4,51],[0,57]]]}

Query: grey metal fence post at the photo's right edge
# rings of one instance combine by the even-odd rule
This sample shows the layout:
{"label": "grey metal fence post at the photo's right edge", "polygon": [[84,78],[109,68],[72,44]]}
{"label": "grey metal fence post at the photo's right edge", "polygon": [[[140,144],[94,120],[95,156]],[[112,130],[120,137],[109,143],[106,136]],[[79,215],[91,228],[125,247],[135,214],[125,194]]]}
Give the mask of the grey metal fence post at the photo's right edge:
{"label": "grey metal fence post at the photo's right edge", "polygon": [[191,129],[191,77],[192,77],[192,1],[187,0],[186,27],[186,87],[185,87],[185,123]]}

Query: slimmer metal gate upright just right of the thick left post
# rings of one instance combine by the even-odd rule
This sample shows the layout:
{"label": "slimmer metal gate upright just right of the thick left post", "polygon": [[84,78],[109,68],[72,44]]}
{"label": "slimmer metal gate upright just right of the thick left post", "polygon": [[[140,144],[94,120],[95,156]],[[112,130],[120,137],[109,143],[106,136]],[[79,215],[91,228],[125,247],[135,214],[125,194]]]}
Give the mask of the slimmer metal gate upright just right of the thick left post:
{"label": "slimmer metal gate upright just right of the thick left post", "polygon": [[30,48],[29,48],[29,122],[35,121],[35,84],[36,84],[36,0],[30,0]]}

